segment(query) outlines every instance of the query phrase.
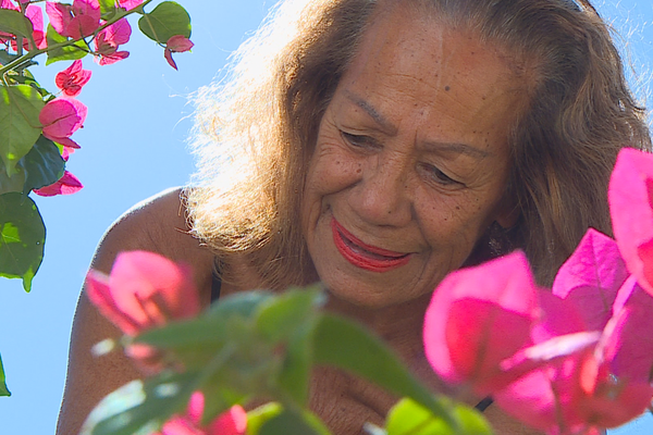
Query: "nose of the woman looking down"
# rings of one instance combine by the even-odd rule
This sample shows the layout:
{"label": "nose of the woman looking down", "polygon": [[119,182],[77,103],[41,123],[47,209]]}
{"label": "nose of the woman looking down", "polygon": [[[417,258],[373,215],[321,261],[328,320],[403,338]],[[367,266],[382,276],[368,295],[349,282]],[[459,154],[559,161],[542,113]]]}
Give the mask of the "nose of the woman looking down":
{"label": "nose of the woman looking down", "polygon": [[412,215],[409,159],[406,156],[370,157],[355,187],[352,208],[373,225],[406,225]]}

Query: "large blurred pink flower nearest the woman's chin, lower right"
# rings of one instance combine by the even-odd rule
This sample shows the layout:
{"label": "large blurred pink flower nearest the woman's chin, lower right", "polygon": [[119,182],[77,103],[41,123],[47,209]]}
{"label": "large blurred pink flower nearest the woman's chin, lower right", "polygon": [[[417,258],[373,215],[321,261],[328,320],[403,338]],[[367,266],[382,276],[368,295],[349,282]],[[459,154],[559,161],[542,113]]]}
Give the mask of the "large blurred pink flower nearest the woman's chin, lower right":
{"label": "large blurred pink flower nearest the woman's chin, lower right", "polygon": [[501,362],[530,343],[540,289],[522,252],[449,274],[424,316],[424,351],[446,382],[484,396],[515,380]]}

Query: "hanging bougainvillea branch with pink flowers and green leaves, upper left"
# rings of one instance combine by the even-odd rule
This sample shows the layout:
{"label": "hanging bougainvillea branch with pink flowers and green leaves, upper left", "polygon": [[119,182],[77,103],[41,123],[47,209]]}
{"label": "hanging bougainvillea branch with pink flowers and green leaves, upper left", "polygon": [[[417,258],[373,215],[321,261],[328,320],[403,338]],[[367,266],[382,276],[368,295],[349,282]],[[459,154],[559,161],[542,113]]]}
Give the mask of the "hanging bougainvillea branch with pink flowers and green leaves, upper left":
{"label": "hanging bougainvillea branch with pink flowers and green leaves, upper left", "polygon": [[[127,58],[130,15],[140,16],[138,29],[163,49],[163,58],[174,69],[172,53],[193,47],[186,10],[175,1],[161,1],[149,10],[153,2],[0,0],[0,201],[14,203],[22,198],[17,207],[0,209],[0,222],[20,226],[22,235],[11,245],[0,244],[0,257],[12,259],[0,264],[0,275],[22,278],[27,291],[44,258],[46,234],[30,194],[70,195],[83,187],[66,170],[79,148],[72,136],[84,126],[88,112],[77,100],[91,77],[82,59],[91,55],[99,65],[108,65]],[[45,3],[47,27],[39,3]],[[46,65],[72,61],[57,74],[56,92],[29,71],[41,54],[47,57]]]}

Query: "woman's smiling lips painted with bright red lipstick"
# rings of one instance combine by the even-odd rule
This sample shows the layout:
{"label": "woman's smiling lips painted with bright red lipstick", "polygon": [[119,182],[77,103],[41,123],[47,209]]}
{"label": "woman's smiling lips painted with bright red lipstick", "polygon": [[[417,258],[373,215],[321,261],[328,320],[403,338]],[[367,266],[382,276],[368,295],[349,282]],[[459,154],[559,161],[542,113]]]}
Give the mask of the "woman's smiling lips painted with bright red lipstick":
{"label": "woman's smiling lips painted with bright red lipstick", "polygon": [[331,220],[331,231],[340,253],[357,268],[371,272],[386,272],[410,261],[409,253],[389,251],[365,244],[345,229],[335,219]]}

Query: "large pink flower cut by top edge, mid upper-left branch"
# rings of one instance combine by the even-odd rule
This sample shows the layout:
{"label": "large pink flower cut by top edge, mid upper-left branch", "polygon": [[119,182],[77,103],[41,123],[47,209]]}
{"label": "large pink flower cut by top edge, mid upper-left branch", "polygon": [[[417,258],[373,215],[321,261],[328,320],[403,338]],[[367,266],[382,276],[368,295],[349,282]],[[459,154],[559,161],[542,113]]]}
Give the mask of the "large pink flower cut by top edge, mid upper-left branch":
{"label": "large pink flower cut by top edge, mid upper-left branch", "polygon": [[74,0],[72,5],[46,1],[46,13],[59,35],[73,39],[90,36],[100,26],[98,0]]}

